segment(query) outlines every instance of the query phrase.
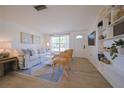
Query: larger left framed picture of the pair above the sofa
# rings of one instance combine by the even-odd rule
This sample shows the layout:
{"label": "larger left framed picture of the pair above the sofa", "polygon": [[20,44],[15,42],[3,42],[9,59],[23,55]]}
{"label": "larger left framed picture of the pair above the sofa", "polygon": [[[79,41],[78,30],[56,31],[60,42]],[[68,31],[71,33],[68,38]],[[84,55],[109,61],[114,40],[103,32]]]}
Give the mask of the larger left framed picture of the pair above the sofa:
{"label": "larger left framed picture of the pair above the sofa", "polygon": [[33,35],[21,32],[21,43],[32,44],[33,43]]}

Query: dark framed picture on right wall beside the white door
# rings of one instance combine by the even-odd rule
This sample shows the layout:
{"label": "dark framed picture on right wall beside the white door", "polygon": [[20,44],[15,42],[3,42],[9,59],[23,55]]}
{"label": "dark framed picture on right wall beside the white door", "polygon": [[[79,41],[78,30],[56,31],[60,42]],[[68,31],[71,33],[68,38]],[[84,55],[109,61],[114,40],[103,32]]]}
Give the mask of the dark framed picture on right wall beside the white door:
{"label": "dark framed picture on right wall beside the white door", "polygon": [[95,46],[96,45],[96,32],[92,32],[89,36],[88,36],[88,45],[89,46]]}

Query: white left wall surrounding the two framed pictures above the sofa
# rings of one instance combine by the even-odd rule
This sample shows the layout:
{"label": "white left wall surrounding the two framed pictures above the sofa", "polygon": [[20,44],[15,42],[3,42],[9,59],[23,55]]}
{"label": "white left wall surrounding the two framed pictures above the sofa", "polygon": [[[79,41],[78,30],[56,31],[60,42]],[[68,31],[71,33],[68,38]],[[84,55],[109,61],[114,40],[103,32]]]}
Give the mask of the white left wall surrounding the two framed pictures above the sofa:
{"label": "white left wall surrounding the two framed pictures above the sofa", "polygon": [[[6,20],[9,15],[4,14],[4,9],[0,8],[0,41],[10,41],[13,48],[28,48],[28,47],[45,47],[43,35],[38,31],[32,30],[13,21]],[[7,11],[6,11],[7,12]],[[10,14],[11,15],[11,14]],[[14,15],[13,15],[14,16]],[[21,44],[20,32],[26,32],[38,35],[41,38],[40,45]]]}

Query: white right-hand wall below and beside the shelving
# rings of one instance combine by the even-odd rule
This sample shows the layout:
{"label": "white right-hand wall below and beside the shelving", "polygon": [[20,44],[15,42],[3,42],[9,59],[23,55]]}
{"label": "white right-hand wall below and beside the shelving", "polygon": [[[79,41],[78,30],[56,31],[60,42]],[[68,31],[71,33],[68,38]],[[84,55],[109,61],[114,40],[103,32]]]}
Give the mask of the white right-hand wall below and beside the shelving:
{"label": "white right-hand wall below and beside the shelving", "polygon": [[[97,31],[96,28],[97,21],[91,26],[90,30],[87,33],[87,36],[93,32]],[[96,34],[97,35],[97,34]],[[98,37],[98,35],[97,35]],[[97,38],[96,37],[96,38]],[[124,56],[118,55],[114,61],[111,60],[110,54],[107,54],[107,57],[111,60],[111,64],[100,63],[97,58],[98,54],[98,39],[96,40],[96,46],[87,47],[87,58],[90,62],[99,70],[99,72],[108,80],[108,82],[113,87],[124,87]],[[107,41],[106,45],[110,45],[113,40]]]}

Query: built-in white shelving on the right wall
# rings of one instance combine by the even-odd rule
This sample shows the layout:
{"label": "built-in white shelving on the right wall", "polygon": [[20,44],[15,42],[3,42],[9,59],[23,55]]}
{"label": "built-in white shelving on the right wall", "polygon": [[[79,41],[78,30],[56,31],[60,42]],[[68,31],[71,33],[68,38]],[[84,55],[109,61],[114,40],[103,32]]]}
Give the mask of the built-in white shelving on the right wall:
{"label": "built-in white shelving on the right wall", "polygon": [[[124,16],[120,18],[115,17],[116,11],[121,11],[119,10],[119,7],[120,6],[114,6],[114,7],[110,6],[108,7],[107,11],[104,12],[103,16],[100,15],[101,19],[99,18],[99,23],[98,23],[98,53],[99,54],[104,54],[105,47],[107,47],[106,44],[108,44],[109,40],[113,41],[114,39],[119,39],[124,37],[124,35],[113,36],[114,26],[124,21]],[[101,22],[102,22],[102,26],[100,24]],[[106,61],[109,61],[109,60],[106,60]]]}

